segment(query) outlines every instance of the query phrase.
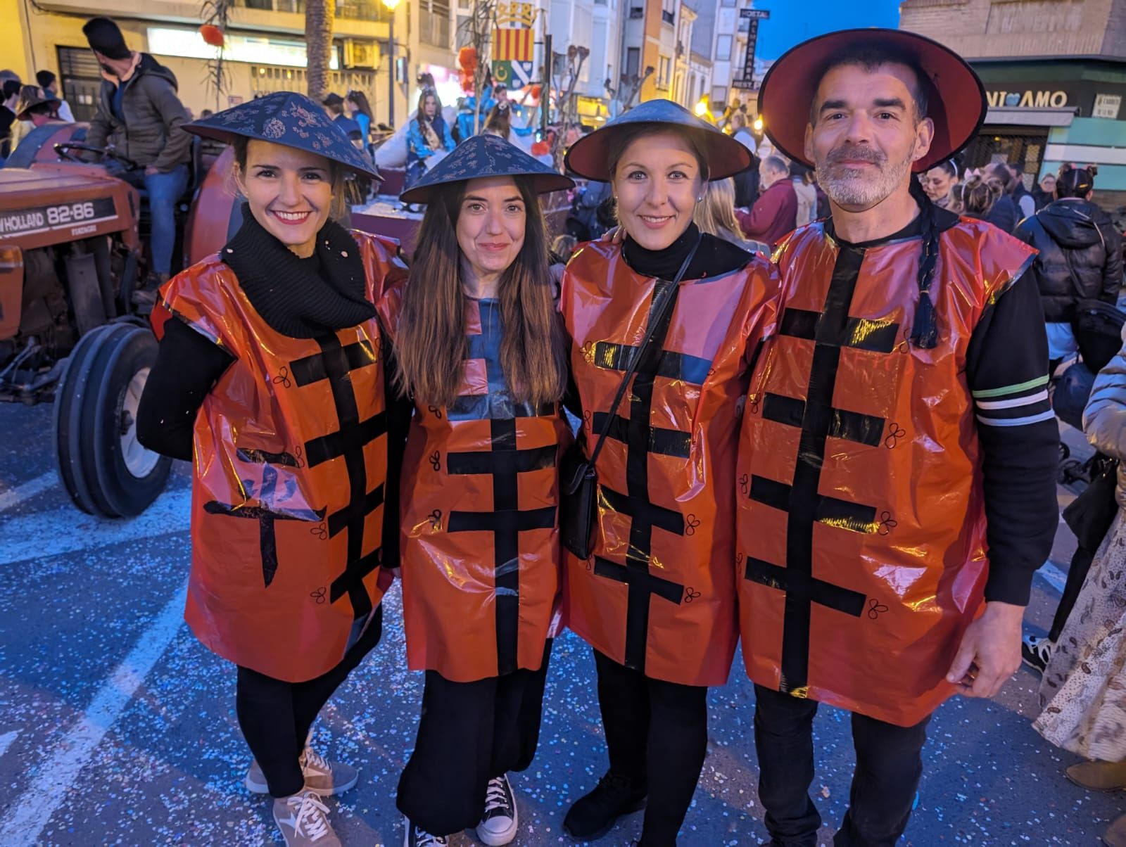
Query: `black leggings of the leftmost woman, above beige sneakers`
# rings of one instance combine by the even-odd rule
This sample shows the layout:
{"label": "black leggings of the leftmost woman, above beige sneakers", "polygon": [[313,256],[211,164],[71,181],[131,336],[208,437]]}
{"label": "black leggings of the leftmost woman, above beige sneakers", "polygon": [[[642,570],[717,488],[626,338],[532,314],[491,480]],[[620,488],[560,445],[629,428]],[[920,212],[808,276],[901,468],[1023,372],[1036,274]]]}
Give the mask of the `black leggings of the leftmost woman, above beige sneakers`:
{"label": "black leggings of the leftmost woman, above beige sneakers", "polygon": [[262,768],[272,796],[287,797],[304,787],[300,759],[309,729],[332,693],[379,643],[382,633],[383,607],[379,606],[367,630],[340,663],[305,683],[286,683],[239,667],[234,698],[239,726]]}

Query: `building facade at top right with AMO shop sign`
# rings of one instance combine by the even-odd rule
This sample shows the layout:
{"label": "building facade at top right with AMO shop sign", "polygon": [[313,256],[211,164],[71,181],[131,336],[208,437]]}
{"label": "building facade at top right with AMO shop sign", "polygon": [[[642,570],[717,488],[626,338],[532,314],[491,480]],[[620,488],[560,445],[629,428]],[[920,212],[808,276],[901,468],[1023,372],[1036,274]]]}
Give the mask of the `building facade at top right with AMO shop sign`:
{"label": "building facade at top right with AMO shop sign", "polygon": [[956,50],[985,83],[966,167],[1019,163],[1031,184],[1096,163],[1103,204],[1126,203],[1126,0],[904,0],[900,27]]}

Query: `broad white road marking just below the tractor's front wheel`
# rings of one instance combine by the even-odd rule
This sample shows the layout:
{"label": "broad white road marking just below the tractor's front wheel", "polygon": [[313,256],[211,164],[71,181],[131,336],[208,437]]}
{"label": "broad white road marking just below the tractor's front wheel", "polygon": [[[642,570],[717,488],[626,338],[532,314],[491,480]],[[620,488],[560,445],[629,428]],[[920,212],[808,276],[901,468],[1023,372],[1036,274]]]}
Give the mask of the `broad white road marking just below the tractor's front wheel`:
{"label": "broad white road marking just below the tractor's front wheel", "polygon": [[[11,518],[0,524],[0,565],[186,533],[190,507],[191,491],[181,489],[161,494],[144,512],[128,520],[91,517],[72,506]],[[60,527],[69,532],[60,532]]]}

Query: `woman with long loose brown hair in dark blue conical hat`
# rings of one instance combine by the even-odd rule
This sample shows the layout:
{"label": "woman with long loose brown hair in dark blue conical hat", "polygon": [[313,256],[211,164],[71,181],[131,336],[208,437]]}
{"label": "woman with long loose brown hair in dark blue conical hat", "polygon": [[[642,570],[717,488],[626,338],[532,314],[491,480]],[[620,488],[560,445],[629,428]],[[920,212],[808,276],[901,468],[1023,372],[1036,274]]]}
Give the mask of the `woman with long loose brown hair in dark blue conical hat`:
{"label": "woman with long loose brown hair in dark blue conical hat", "polygon": [[386,315],[414,402],[403,460],[406,659],[426,671],[399,783],[406,847],[516,836],[509,770],[531,764],[560,591],[563,328],[538,193],[573,182],[491,135],[402,199],[427,204]]}

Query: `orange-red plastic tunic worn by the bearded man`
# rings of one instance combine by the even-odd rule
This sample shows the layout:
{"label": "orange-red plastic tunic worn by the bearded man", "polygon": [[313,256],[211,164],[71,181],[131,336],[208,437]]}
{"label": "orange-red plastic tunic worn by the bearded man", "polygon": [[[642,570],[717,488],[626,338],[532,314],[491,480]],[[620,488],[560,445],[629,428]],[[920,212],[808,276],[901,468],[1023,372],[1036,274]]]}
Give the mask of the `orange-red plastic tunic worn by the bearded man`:
{"label": "orange-red plastic tunic worn by the bearded man", "polygon": [[1034,251],[983,222],[940,235],[938,346],[910,337],[918,238],[776,253],[784,311],[739,452],[740,625],[756,683],[910,726],[945,681],[988,576],[971,333]]}

